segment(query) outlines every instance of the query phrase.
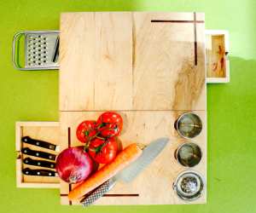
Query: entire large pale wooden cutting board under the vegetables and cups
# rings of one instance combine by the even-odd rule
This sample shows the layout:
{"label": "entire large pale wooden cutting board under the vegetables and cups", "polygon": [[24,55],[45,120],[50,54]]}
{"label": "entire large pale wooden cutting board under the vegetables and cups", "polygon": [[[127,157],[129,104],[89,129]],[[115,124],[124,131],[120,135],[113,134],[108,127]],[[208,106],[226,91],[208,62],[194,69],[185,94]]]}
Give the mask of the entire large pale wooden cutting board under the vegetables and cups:
{"label": "entire large pale wooden cutting board under the vegetables and cups", "polygon": [[[107,110],[125,121],[124,147],[171,139],[164,152],[131,184],[119,183],[96,204],[183,204],[172,189],[186,170],[174,152],[186,141],[173,124],[193,111],[203,121],[195,141],[202,149],[193,170],[207,180],[207,108],[204,14],[90,12],[61,14],[61,148],[79,145],[77,125]],[[61,181],[61,204],[74,186]],[[206,202],[206,186],[200,199]]]}

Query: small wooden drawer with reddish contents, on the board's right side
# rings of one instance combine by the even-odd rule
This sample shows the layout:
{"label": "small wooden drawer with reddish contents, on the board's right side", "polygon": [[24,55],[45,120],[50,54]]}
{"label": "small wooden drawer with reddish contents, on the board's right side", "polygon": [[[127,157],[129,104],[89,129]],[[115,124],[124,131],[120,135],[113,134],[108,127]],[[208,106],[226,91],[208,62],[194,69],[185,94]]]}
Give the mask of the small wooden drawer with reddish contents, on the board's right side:
{"label": "small wooden drawer with reddish contents, on the board's right side", "polygon": [[229,83],[229,33],[218,30],[207,30],[205,32],[207,83]]}

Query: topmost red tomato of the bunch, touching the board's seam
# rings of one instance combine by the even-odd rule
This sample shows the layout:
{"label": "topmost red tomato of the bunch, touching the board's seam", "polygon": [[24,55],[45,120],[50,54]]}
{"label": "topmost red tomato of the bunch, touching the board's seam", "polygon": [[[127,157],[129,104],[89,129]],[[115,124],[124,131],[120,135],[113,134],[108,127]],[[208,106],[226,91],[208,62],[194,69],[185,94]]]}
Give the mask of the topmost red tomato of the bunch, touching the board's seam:
{"label": "topmost red tomato of the bunch, touching the board's seam", "polygon": [[104,112],[98,118],[97,126],[103,137],[117,136],[123,128],[123,119],[117,112]]}

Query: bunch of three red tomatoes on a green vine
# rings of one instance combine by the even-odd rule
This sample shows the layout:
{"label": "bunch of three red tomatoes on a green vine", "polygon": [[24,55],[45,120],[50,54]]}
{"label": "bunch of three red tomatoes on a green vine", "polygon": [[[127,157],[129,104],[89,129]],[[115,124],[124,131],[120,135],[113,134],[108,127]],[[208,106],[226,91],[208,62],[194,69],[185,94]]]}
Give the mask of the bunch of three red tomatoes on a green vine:
{"label": "bunch of three red tomatoes on a green vine", "polygon": [[85,143],[85,150],[99,164],[108,164],[122,149],[117,136],[123,128],[123,119],[117,112],[104,112],[96,120],[79,124],[76,135]]}

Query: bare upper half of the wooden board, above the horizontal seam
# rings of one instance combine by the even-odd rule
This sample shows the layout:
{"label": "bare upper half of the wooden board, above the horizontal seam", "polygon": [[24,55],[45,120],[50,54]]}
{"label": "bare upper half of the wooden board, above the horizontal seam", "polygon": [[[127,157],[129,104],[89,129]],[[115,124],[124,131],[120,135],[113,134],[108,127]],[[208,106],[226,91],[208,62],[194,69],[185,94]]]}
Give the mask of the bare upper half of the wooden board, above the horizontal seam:
{"label": "bare upper half of the wooden board, above the horizontal seam", "polygon": [[206,110],[204,23],[194,16],[61,14],[60,110]]}

